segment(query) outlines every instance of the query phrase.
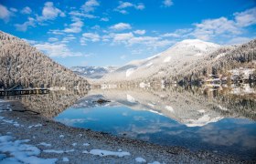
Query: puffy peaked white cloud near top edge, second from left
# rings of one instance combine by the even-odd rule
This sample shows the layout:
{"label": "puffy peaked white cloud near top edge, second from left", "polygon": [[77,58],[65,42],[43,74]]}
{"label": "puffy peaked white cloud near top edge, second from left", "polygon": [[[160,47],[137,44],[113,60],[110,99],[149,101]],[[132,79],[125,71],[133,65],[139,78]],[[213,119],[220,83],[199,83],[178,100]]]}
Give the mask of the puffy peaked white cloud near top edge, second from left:
{"label": "puffy peaked white cloud near top edge, second from left", "polygon": [[37,16],[38,21],[53,20],[58,16],[66,16],[59,8],[55,7],[52,2],[46,2],[41,16]]}

